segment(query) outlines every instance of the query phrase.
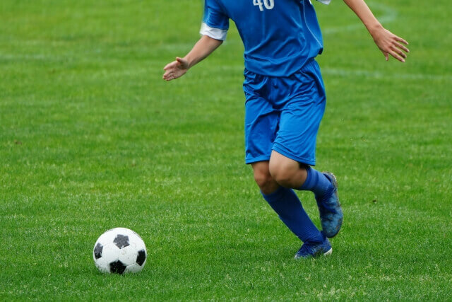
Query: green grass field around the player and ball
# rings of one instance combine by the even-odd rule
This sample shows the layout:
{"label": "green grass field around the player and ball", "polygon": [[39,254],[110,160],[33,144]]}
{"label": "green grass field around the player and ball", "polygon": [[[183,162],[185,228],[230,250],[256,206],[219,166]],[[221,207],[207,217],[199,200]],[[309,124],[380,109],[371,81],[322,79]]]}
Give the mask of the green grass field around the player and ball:
{"label": "green grass field around the player and ball", "polygon": [[[345,223],[331,257],[296,261],[244,165],[237,30],[165,83],[202,1],[1,0],[0,300],[451,301],[452,6],[369,1],[410,42],[406,64],[343,1],[315,6],[317,161]],[[145,240],[141,274],[97,272],[95,240],[117,226]]]}

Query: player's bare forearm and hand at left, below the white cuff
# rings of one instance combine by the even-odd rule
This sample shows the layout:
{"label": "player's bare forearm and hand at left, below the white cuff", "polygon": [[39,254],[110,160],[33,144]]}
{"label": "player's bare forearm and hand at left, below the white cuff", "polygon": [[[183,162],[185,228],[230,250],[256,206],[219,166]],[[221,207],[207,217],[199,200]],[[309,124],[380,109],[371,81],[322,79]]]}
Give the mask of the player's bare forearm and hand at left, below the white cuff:
{"label": "player's bare forearm and hand at left, below the white cuff", "polygon": [[208,35],[203,35],[196,43],[193,49],[184,57],[176,58],[176,61],[167,64],[163,69],[163,79],[171,81],[183,76],[192,66],[198,64],[209,56],[222,44],[222,40],[216,40]]}

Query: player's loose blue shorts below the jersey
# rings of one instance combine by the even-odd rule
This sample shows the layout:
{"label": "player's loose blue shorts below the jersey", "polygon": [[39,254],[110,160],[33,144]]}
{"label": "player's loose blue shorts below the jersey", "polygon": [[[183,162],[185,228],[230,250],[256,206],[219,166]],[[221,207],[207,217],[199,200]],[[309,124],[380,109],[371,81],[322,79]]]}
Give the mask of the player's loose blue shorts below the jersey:
{"label": "player's loose blue shorts below the jersey", "polygon": [[316,137],[326,95],[313,59],[287,77],[244,72],[245,161],[268,161],[271,151],[299,163],[316,164]]}

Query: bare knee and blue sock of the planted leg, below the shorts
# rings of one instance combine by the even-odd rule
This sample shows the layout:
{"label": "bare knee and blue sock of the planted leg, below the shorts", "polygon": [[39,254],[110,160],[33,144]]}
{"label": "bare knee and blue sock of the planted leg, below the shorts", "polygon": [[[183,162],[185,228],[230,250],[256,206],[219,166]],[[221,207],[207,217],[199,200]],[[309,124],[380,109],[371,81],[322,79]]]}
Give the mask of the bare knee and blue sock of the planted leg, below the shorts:
{"label": "bare knee and blue sock of the planted leg, below the shorts", "polygon": [[[254,180],[261,189],[263,198],[266,199],[266,202],[278,214],[287,228],[304,243],[322,245],[326,241],[325,236],[312,223],[297,194],[292,189],[281,187],[275,182],[270,175],[268,161],[251,163],[251,166],[253,167]],[[327,250],[330,248],[331,246]]]}

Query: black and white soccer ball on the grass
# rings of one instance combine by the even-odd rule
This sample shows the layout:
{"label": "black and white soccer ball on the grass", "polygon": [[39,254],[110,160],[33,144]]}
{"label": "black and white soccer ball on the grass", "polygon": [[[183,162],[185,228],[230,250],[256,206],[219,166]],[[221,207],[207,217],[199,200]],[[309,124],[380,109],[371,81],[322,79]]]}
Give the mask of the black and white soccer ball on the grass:
{"label": "black and white soccer ball on the grass", "polygon": [[93,259],[100,272],[140,272],[146,258],[143,239],[129,228],[112,228],[103,233],[94,245]]}

